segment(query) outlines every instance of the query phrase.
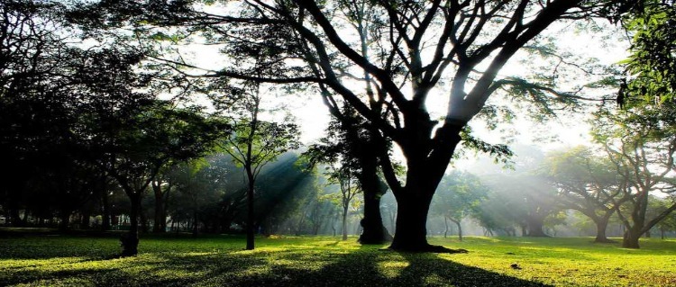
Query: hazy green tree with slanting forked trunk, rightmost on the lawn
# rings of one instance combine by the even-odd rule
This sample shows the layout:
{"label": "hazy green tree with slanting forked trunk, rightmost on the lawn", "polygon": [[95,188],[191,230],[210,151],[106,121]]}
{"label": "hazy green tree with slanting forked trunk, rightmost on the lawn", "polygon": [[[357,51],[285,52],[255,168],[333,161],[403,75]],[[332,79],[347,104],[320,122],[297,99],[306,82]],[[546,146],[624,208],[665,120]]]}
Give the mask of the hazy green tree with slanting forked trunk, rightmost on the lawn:
{"label": "hazy green tree with slanting forked trunk, rightmost on the lawn", "polygon": [[671,202],[658,214],[650,216],[647,212],[651,195],[676,192],[675,107],[668,101],[661,105],[635,105],[629,111],[602,110],[592,130],[620,175],[622,197],[628,197],[625,205],[614,202],[626,227],[623,247],[638,248],[638,239],[676,210],[676,202]]}

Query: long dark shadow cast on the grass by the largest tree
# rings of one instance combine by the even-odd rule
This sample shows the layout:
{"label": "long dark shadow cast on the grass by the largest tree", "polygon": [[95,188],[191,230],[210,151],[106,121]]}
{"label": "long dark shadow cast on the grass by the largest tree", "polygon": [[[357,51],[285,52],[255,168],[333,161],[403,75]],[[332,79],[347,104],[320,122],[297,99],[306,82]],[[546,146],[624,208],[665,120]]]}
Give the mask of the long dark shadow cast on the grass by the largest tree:
{"label": "long dark shadow cast on the grass by the largest tree", "polygon": [[[263,273],[235,275],[214,270],[196,285],[235,286],[548,286],[461,265],[435,254],[377,249],[320,256],[289,252]],[[297,264],[294,264],[297,261]],[[284,262],[285,264],[279,264]],[[225,274],[222,274],[225,272]]]}

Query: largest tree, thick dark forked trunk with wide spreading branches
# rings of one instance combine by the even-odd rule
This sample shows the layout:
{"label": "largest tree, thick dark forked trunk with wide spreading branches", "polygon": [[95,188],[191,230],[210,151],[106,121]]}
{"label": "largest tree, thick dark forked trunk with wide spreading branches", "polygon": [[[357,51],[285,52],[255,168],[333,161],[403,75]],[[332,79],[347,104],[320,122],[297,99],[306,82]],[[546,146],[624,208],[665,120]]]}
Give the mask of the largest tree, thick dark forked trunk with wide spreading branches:
{"label": "largest tree, thick dark forked trunk with wide spreading branches", "polygon": [[[381,139],[375,153],[398,203],[391,248],[411,251],[443,250],[427,244],[425,222],[461,133],[498,88],[523,84],[499,78],[498,71],[553,22],[614,10],[607,1],[568,0],[247,1],[227,3],[220,11],[180,4],[130,4],[123,13],[143,13],[149,16],[145,22],[160,25],[194,24],[212,43],[240,47],[234,50],[237,53],[266,53],[262,63],[261,58],[238,58],[237,65],[212,76],[314,83],[332,110],[340,104],[352,106]],[[108,3],[96,9],[119,10]],[[368,36],[364,23],[370,27]],[[253,65],[255,61],[259,62]],[[261,72],[261,67],[274,73]],[[354,85],[359,82],[371,85],[372,93]],[[450,91],[442,91],[442,84]],[[439,105],[432,103],[438,94],[445,102],[441,117],[427,109]],[[550,94],[561,102],[576,97]],[[552,98],[537,100],[547,104]],[[406,157],[402,180],[390,160],[390,140]]]}

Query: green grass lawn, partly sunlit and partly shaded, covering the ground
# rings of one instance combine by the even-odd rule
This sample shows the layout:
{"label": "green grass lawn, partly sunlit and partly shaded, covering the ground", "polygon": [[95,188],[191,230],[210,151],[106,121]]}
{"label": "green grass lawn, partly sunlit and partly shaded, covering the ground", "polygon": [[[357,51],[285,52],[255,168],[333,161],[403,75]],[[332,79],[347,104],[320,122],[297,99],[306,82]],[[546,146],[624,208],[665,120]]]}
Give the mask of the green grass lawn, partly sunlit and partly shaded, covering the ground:
{"label": "green grass lawn, partly sunlit and partly shaded, covering the ground", "polygon": [[[642,249],[591,238],[433,238],[468,254],[410,254],[351,238],[142,238],[115,258],[117,238],[0,238],[0,285],[16,286],[676,286],[676,241]],[[522,269],[510,267],[519,265]]]}

